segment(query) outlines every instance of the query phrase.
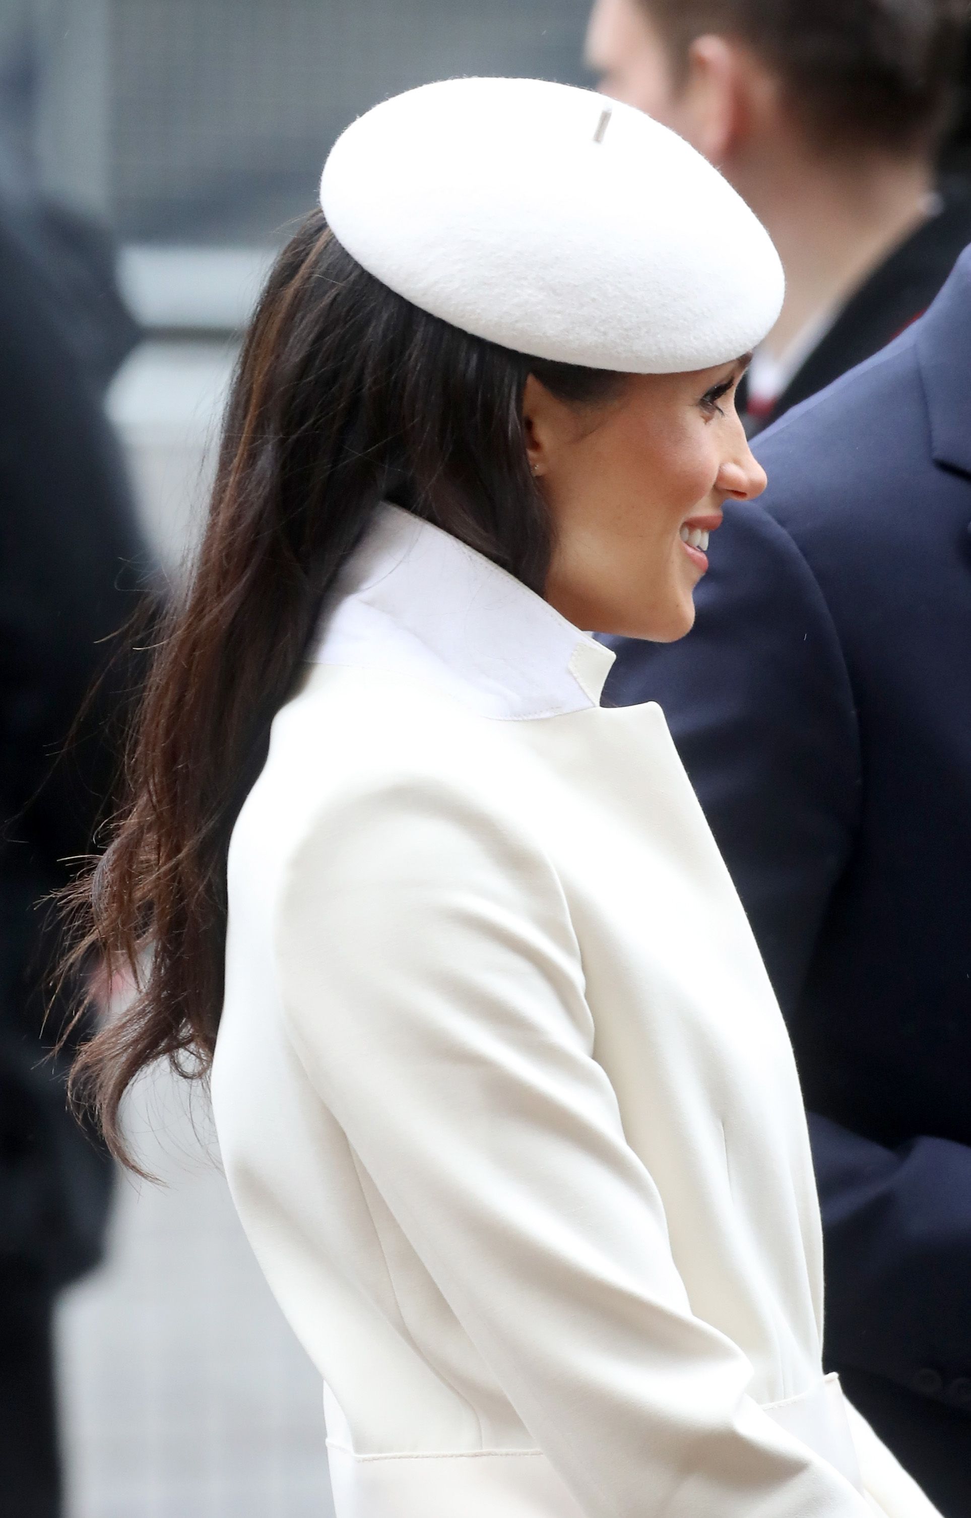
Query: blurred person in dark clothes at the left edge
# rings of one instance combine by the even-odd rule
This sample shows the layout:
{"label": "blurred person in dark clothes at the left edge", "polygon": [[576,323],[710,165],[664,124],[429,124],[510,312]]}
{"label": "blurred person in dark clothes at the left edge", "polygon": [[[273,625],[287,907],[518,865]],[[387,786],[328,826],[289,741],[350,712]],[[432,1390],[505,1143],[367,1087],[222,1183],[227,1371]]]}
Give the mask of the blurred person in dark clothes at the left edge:
{"label": "blurred person in dark clothes at the left edge", "polygon": [[56,943],[42,899],[91,850],[115,780],[117,700],[82,701],[135,603],[143,548],[97,380],[0,202],[0,1509],[58,1518],[58,1292],[99,1258],[105,1152],[46,1050]]}

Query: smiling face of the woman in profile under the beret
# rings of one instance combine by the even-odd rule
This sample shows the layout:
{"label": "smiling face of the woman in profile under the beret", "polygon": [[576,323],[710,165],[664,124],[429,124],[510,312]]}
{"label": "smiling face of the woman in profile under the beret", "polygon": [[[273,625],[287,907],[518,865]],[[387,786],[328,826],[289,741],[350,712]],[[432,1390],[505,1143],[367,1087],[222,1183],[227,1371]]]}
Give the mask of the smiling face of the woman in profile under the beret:
{"label": "smiling face of the woman in profile under the beret", "polygon": [[590,407],[526,381],[529,463],[555,542],[546,600],[573,625],[654,642],[690,630],[722,504],[766,483],[734,408],[746,361],[625,375]]}

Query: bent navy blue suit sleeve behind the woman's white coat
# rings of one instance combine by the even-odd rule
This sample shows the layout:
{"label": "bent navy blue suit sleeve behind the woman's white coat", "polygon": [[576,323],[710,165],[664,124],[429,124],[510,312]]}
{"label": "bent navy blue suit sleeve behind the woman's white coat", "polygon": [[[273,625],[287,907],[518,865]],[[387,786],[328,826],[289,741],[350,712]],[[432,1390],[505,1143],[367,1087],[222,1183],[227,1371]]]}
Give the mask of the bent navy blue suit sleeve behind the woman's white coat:
{"label": "bent navy blue suit sleeve behind the woman's white coat", "polygon": [[[663,648],[607,639],[617,651],[607,691],[619,704],[665,709],[800,1055],[807,970],[854,849],[853,692],[827,603],[790,534],[751,505],[727,507],[722,533],[695,630]],[[897,1152],[812,1114],[810,1137],[827,1356],[910,1390],[942,1345],[947,1359],[971,1360],[971,1149],[922,1137]],[[930,1395],[944,1397],[944,1386]]]}

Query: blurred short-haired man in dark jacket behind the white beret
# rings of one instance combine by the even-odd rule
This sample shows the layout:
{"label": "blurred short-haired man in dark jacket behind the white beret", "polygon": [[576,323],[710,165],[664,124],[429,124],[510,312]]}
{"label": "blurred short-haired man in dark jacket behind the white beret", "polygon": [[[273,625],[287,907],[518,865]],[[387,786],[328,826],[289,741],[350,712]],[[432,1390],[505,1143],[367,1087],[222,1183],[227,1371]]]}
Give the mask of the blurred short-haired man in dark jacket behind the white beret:
{"label": "blurred short-haired man in dark jacket behind the white beret", "polygon": [[971,241],[971,194],[935,175],[966,17],[966,0],[596,0],[601,88],[712,159],[781,255],[786,304],[739,396],[749,433],[891,342]]}

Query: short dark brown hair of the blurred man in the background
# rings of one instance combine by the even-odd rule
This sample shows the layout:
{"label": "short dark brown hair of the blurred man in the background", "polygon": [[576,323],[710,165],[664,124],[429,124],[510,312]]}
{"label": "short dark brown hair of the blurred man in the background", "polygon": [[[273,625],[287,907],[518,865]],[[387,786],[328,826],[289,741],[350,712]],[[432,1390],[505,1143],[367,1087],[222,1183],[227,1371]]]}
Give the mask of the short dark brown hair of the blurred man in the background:
{"label": "short dark brown hair of the blurred man in the background", "polygon": [[932,149],[956,102],[968,0],[640,0],[675,58],[715,32],[783,82],[819,147]]}

